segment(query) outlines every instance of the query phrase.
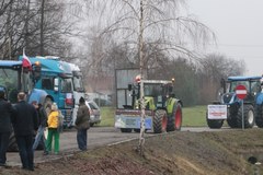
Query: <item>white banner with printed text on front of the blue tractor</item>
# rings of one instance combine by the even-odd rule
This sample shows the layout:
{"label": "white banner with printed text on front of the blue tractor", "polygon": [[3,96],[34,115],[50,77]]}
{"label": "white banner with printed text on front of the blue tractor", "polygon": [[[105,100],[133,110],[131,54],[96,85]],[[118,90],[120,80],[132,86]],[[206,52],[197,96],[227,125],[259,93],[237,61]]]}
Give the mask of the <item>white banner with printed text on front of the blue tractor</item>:
{"label": "white banner with printed text on front of the blue tractor", "polygon": [[208,105],[208,119],[227,119],[227,105]]}

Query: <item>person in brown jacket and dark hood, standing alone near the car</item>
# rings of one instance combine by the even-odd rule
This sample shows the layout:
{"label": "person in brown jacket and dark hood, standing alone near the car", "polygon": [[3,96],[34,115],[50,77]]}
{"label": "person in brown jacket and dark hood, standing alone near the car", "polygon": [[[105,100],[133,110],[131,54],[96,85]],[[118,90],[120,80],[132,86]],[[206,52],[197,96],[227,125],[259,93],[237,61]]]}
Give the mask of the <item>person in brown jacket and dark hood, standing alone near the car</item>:
{"label": "person in brown jacket and dark hood, standing alone near the car", "polygon": [[81,151],[87,150],[87,131],[90,128],[90,110],[85,105],[83,97],[79,100],[79,108],[77,112],[77,119],[75,121],[77,129],[77,142]]}

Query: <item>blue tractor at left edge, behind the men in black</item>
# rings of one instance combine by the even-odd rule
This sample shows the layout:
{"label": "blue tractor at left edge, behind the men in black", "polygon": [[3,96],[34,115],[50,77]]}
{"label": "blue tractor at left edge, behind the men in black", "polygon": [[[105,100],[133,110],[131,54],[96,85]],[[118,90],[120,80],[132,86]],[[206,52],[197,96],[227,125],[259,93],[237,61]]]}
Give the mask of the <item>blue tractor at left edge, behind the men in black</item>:
{"label": "blue tractor at left edge, behind the men in black", "polygon": [[[22,60],[0,60],[0,88],[4,90],[5,98],[11,104],[15,104],[18,102],[18,93],[24,91],[27,94],[28,103],[35,101],[46,108],[48,94],[43,90],[34,88],[34,84],[39,81],[41,65],[39,62],[32,62],[27,66]],[[10,136],[8,151],[18,151],[13,132]]]}

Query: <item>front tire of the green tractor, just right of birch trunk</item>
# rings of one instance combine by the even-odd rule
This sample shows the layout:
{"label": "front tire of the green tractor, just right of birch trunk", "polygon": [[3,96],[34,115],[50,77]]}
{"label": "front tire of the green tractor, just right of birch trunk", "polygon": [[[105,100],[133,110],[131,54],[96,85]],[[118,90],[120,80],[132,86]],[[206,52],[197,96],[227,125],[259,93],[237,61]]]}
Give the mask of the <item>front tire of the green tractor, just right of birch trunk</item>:
{"label": "front tire of the green tractor, just right of birch trunk", "polygon": [[167,131],[167,112],[162,109],[156,110],[156,115],[153,116],[153,132],[161,133]]}

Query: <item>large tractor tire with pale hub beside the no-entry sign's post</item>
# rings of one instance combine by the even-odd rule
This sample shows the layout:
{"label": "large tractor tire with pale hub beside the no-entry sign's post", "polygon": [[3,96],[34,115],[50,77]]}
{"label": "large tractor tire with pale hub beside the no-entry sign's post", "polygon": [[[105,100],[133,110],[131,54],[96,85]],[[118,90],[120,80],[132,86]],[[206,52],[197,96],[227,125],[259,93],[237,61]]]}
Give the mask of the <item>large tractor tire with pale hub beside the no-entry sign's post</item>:
{"label": "large tractor tire with pale hub beside the no-entry sign's post", "polygon": [[[244,128],[252,128],[255,122],[254,107],[252,105],[243,105]],[[237,116],[238,128],[242,128],[242,107],[238,110]]]}

